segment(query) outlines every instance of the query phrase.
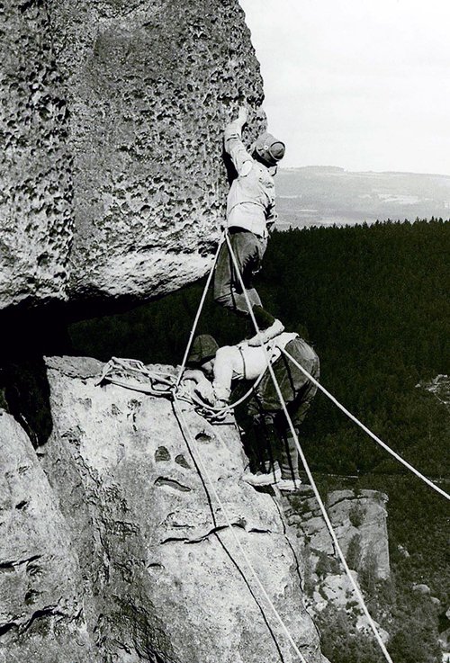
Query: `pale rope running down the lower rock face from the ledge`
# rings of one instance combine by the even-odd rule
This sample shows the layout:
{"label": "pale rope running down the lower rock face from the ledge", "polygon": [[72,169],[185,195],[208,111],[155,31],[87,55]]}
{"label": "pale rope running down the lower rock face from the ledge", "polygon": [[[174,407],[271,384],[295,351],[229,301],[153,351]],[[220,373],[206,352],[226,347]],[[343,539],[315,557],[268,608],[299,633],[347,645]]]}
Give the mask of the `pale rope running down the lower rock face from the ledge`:
{"label": "pale rope running down the lower rock face from the ledge", "polygon": [[[219,496],[219,494],[216,490],[214,481],[211,479],[211,475],[208,472],[206,466],[204,465],[204,463],[202,461],[202,455],[199,452],[198,445],[196,444],[195,440],[193,439],[193,435],[191,434],[189,426],[188,426],[188,424],[186,422],[186,419],[184,417],[183,410],[179,407],[178,398],[175,394],[175,391],[174,391],[174,410],[175,410],[175,415],[178,419],[179,426],[180,426],[182,432],[184,433],[184,435],[186,435],[186,437],[188,438],[188,441],[189,441],[190,445],[192,446],[193,450],[195,451],[195,456],[196,456],[195,460],[197,461],[200,470],[202,470],[202,474],[204,474],[206,479],[208,479],[208,483],[210,484],[210,487],[211,487],[211,492],[212,492],[213,496],[215,497],[215,499],[217,500],[218,505],[220,506],[221,513],[223,514],[223,517],[225,518],[225,522],[227,524],[227,527],[229,528],[229,532],[230,532],[231,536],[233,537],[234,541],[236,542],[236,544],[238,546],[238,549],[239,549],[240,553],[242,554],[242,557],[246,561],[246,564],[247,564],[248,569],[250,570],[250,573],[252,574],[253,578],[255,578],[255,580],[257,582],[257,586],[261,590],[261,593],[263,594],[263,596],[266,598],[267,605],[269,605],[270,608],[272,609],[272,612],[274,613],[277,622],[282,627],[282,629],[284,631],[284,634],[286,635],[286,637],[287,637],[289,643],[291,644],[293,650],[295,651],[295,653],[299,657],[301,663],[307,663],[306,659],[304,659],[304,657],[302,656],[302,652],[299,650],[299,648],[295,644],[295,641],[293,641],[293,637],[292,637],[291,633],[288,631],[282,617],[280,616],[280,614],[276,610],[275,605],[272,602],[270,596],[267,594],[264,585],[262,584],[261,580],[259,579],[259,577],[257,575],[257,571],[255,570],[253,564],[249,560],[249,558],[247,556],[247,552],[244,550],[244,548],[242,546],[242,543],[238,540],[238,536],[236,535],[236,533],[234,531],[234,528],[233,528],[233,525],[232,525],[232,523],[229,519],[228,511],[227,511],[226,507],[224,506],[223,502],[221,501],[220,496]],[[183,426],[182,426],[182,423],[183,423]],[[217,431],[215,429],[214,429],[214,435],[217,435],[220,438],[220,436],[217,434]],[[222,438],[220,438],[220,442],[225,445]]]}

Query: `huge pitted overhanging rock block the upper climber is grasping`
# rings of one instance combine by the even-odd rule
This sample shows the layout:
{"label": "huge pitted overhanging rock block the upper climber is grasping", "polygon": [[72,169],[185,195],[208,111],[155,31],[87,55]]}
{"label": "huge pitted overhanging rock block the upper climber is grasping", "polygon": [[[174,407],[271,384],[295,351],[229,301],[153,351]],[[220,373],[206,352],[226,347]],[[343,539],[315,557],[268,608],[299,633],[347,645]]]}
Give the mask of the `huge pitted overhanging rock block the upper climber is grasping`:
{"label": "huge pitted overhanging rock block the upper climber is grasping", "polygon": [[0,10],[0,309],[145,299],[205,273],[222,129],[265,122],[238,0],[10,2]]}

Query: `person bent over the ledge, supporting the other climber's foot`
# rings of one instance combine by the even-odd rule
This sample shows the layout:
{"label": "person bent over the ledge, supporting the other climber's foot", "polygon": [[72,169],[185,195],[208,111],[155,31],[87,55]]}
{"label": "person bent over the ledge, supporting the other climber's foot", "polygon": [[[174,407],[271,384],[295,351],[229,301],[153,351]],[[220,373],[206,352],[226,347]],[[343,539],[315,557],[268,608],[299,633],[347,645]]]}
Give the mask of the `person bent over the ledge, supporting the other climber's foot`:
{"label": "person bent over the ledge, supporting the other climber's foot", "polygon": [[[287,411],[298,435],[317,387],[282,353],[293,356],[310,375],[319,380],[319,357],[300,336],[284,332],[266,343]],[[252,486],[275,484],[284,491],[300,486],[299,455],[290,426],[284,415],[272,376],[267,369],[262,346],[238,345],[219,347],[208,334],[197,336],[188,358],[191,367],[184,373],[195,383],[194,389],[204,401],[216,408],[229,404],[232,387],[239,382],[255,384],[251,397],[245,401],[238,424],[257,441],[254,471],[244,474]],[[260,380],[258,380],[260,379]]]}

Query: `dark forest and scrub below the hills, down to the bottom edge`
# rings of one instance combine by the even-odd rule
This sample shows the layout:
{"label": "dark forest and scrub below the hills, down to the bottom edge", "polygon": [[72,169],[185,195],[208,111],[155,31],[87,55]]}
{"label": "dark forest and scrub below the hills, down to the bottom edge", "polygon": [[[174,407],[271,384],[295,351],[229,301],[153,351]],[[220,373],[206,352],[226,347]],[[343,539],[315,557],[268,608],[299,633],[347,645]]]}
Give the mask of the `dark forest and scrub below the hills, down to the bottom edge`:
{"label": "dark forest and scrub below the hills, down to the bottom edge", "polygon": [[[446,489],[448,409],[425,385],[450,372],[449,256],[450,221],[293,229],[273,234],[256,283],[266,308],[314,345],[324,386]],[[204,280],[129,312],[73,324],[75,353],[180,363],[203,286]],[[214,305],[210,293],[199,332],[223,345],[251,329]],[[388,494],[392,578],[364,587],[365,594],[391,633],[395,663],[437,663],[438,623],[450,604],[446,500],[320,394],[301,442],[322,494],[330,488]],[[415,593],[414,583],[427,583],[432,597]],[[322,617],[322,648],[333,663],[382,660],[372,638],[352,631],[348,615]]]}

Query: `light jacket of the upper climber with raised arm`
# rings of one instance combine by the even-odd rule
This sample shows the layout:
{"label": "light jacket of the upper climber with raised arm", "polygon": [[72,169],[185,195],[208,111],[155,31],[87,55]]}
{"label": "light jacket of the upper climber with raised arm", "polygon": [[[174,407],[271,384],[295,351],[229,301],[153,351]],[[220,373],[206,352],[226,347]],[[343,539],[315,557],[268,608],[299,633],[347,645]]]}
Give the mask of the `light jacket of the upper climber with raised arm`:
{"label": "light jacket of the upper climber with raised arm", "polygon": [[236,121],[226,127],[224,139],[225,150],[238,173],[229,189],[227,226],[267,237],[276,220],[275,168],[264,166],[247,152]]}

